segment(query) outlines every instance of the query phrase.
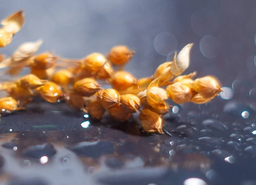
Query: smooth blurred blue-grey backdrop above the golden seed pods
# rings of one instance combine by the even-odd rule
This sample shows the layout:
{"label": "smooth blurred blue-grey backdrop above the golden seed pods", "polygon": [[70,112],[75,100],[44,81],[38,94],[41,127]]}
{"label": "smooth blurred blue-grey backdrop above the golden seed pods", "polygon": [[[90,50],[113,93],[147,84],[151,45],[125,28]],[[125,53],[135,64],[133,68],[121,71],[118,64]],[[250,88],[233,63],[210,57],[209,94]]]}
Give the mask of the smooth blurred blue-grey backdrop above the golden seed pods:
{"label": "smooth blurred blue-grey backdrop above the golden seed pods", "polygon": [[53,50],[68,58],[106,54],[125,44],[137,51],[126,70],[140,78],[193,42],[186,73],[215,75],[227,87],[249,80],[253,87],[255,6],[254,0],[0,0],[1,18],[19,9],[26,17],[1,52],[10,55],[21,43],[39,38],[44,40],[39,52]]}

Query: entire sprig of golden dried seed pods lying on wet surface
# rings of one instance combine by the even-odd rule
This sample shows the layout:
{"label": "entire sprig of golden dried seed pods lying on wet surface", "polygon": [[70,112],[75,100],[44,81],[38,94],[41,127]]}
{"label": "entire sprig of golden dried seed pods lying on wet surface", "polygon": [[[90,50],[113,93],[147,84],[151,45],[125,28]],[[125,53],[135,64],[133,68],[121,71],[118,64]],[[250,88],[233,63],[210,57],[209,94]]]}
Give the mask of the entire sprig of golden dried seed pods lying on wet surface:
{"label": "entire sprig of golden dried seed pods lying on wet surface", "polygon": [[[17,27],[15,22],[24,22],[22,12],[10,17],[12,26],[2,22],[4,31]],[[9,43],[4,43],[3,39],[5,35],[2,34],[1,47]],[[0,84],[0,90],[8,93],[8,97],[0,98],[1,114],[24,110],[35,96],[39,96],[49,103],[65,101],[72,109],[87,112],[93,119],[102,119],[108,113],[122,122],[128,121],[133,113],[139,113],[143,130],[163,133],[162,116],[172,107],[166,103],[168,98],[177,104],[204,104],[221,91],[218,80],[212,76],[193,80],[196,72],[181,75],[189,66],[192,43],[175,53],[172,61],[158,66],[154,75],[140,79],[122,70],[135,53],[127,46],[114,46],[107,55],[94,52],[72,60],[50,52],[36,55],[42,43],[42,40],[23,43],[12,56],[0,55],[0,68],[7,68],[9,75],[15,77],[23,68],[30,69],[30,74]],[[112,88],[103,89],[101,82]]]}

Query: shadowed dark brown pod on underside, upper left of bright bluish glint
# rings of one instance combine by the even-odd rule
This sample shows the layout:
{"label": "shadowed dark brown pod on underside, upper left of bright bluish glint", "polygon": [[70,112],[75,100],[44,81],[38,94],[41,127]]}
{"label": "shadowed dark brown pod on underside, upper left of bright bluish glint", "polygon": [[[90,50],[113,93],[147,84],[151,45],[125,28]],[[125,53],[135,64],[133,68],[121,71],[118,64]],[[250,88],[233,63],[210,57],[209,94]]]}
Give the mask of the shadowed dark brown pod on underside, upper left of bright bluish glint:
{"label": "shadowed dark brown pod on underside, upper left of bright bluish glint", "polygon": [[65,101],[73,110],[85,110],[86,101],[75,91],[70,90],[67,95],[65,95]]}

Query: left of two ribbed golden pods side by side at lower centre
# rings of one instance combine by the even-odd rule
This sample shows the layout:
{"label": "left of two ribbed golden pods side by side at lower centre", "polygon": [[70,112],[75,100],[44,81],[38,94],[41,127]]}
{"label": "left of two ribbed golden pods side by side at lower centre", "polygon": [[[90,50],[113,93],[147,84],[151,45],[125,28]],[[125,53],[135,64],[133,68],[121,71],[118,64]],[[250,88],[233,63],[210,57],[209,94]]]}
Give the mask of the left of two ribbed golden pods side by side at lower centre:
{"label": "left of two ribbed golden pods side by side at lower centre", "polygon": [[119,104],[119,93],[114,89],[106,89],[102,93],[102,98],[99,100],[104,109],[110,109]]}

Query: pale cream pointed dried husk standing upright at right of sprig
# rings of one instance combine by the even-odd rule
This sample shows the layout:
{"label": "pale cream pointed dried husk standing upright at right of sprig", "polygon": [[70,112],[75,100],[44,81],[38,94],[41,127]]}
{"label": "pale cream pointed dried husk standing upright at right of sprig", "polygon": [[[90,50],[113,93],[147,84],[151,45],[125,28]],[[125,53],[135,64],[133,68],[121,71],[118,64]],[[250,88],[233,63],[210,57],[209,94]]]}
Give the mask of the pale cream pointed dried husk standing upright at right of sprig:
{"label": "pale cream pointed dried husk standing upright at right of sprig", "polygon": [[177,55],[174,56],[173,62],[171,64],[170,72],[175,75],[181,75],[189,66],[190,63],[190,51],[193,43],[187,44]]}

